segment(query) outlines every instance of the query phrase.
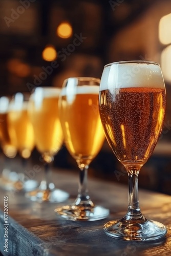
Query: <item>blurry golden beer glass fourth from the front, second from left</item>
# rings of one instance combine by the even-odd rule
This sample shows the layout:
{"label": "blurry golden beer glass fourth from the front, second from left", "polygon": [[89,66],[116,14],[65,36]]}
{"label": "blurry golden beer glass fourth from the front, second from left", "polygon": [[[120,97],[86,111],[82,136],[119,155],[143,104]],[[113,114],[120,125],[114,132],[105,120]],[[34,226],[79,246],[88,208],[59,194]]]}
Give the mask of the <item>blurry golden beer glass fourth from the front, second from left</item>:
{"label": "blurry golden beer glass fourth from the front, second from left", "polygon": [[7,116],[8,131],[11,141],[14,141],[16,149],[22,159],[22,172],[17,173],[17,190],[32,190],[37,187],[37,181],[26,180],[25,168],[34,148],[33,125],[28,116],[28,93],[16,93],[13,95]]}

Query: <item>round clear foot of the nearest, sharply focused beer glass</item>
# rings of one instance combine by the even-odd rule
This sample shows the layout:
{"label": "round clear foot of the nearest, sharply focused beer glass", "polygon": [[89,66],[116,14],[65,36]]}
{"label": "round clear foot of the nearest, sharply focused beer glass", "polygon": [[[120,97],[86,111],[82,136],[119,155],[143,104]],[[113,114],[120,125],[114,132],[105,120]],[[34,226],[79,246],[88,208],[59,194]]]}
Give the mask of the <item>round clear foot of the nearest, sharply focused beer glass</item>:
{"label": "round clear foot of the nearest, sharply focused beer glass", "polygon": [[153,241],[162,238],[167,232],[162,223],[145,218],[139,223],[124,218],[109,221],[104,225],[103,230],[110,237],[127,241]]}

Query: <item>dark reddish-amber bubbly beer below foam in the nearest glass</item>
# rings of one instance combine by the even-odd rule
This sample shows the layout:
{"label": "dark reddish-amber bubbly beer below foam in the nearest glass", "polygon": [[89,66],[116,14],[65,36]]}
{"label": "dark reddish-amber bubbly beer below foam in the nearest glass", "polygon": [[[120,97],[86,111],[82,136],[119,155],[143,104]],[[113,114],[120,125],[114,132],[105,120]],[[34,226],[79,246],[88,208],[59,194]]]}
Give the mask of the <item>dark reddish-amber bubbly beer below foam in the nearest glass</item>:
{"label": "dark reddish-amber bubbly beer below foam in the nearest glass", "polygon": [[123,164],[146,162],[162,130],[165,90],[113,88],[102,90],[99,101],[106,138],[117,158]]}

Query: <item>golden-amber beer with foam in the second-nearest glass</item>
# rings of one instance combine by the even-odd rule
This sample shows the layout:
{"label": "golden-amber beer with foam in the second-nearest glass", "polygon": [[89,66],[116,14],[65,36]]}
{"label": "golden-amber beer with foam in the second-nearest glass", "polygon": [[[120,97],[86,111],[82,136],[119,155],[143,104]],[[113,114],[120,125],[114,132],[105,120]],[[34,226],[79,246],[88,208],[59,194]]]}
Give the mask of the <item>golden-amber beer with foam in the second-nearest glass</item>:
{"label": "golden-amber beer with foam in the second-nearest glass", "polygon": [[104,141],[98,110],[99,86],[78,86],[76,93],[62,89],[60,121],[68,151],[75,159],[92,160]]}

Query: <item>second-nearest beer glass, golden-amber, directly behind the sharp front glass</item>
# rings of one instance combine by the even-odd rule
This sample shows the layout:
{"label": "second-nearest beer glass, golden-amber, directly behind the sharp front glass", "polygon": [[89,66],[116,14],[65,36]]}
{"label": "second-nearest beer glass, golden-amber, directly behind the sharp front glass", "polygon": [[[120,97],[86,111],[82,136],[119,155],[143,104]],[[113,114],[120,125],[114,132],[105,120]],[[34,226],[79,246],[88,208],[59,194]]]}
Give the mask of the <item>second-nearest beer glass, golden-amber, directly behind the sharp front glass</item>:
{"label": "second-nearest beer glass, golden-amber, directly behind the sharp front glass", "polygon": [[59,97],[59,115],[64,141],[80,169],[78,196],[71,205],[55,209],[68,220],[95,221],[104,219],[109,210],[95,205],[88,194],[87,171],[104,142],[104,132],[98,110],[100,80],[68,78]]}

